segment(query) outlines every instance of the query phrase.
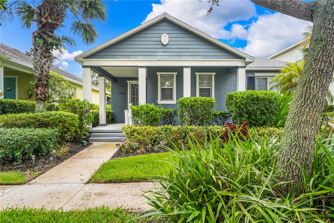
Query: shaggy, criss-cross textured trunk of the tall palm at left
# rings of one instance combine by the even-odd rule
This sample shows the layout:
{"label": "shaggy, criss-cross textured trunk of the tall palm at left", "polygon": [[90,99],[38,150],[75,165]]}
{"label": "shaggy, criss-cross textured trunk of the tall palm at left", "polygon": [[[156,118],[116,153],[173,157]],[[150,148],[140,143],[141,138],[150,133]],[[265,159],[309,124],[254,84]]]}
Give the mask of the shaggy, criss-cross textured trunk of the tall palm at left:
{"label": "shaggy, criss-cross textured trunk of the tall palm at left", "polygon": [[[48,100],[48,85],[51,78],[49,72],[55,57],[52,55],[54,31],[58,29],[64,19],[66,10],[61,1],[44,0],[38,5],[37,30],[32,33],[33,72],[35,78],[36,112],[42,112]],[[37,40],[43,40],[40,44]]]}

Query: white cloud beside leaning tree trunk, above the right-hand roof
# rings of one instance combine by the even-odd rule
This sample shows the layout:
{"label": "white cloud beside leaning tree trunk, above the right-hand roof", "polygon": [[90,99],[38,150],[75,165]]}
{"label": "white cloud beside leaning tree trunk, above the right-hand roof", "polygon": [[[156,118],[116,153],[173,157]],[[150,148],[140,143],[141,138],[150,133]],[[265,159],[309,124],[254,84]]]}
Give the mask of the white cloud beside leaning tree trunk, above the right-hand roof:
{"label": "white cloud beside leaning tree trunk, above the right-hand roof", "polygon": [[242,50],[250,55],[268,57],[303,39],[302,32],[310,22],[281,13],[260,15],[247,29],[247,45]]}

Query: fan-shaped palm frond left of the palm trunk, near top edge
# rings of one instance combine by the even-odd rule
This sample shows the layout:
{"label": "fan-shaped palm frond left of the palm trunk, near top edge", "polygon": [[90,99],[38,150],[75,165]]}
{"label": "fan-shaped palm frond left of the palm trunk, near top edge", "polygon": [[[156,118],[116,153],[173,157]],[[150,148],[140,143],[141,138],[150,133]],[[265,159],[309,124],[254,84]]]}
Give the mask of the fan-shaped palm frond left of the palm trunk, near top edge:
{"label": "fan-shaped palm frond left of the palm trunk, near top edge", "polygon": [[16,13],[20,16],[22,28],[29,29],[37,18],[38,8],[33,7],[26,2],[19,2],[18,5]]}

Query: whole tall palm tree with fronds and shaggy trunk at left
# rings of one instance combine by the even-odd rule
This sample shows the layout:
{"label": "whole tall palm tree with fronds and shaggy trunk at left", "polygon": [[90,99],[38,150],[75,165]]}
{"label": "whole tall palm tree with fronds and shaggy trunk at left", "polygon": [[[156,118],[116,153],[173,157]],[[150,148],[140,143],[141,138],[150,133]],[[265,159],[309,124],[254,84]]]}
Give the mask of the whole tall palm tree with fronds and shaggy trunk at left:
{"label": "whole tall palm tree with fronds and shaggy trunk at left", "polygon": [[107,7],[99,0],[42,0],[37,6],[19,0],[7,6],[10,7],[15,8],[23,28],[30,29],[32,25],[37,25],[36,31],[32,33],[33,72],[36,112],[42,112],[47,101],[50,67],[56,59],[52,51],[63,52],[65,45],[76,45],[72,37],[59,36],[55,31],[64,27],[65,19],[71,16],[74,19],[71,32],[90,45],[98,37],[92,22],[105,22]]}

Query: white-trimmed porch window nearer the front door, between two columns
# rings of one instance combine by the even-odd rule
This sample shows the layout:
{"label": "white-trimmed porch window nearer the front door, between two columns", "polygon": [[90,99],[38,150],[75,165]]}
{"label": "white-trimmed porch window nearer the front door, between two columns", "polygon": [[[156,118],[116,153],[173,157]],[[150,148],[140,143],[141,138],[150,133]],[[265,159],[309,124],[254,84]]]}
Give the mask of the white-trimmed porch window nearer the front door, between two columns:
{"label": "white-trimmed porch window nearer the front door, between two columns", "polygon": [[176,74],[157,73],[158,75],[158,104],[176,103]]}

